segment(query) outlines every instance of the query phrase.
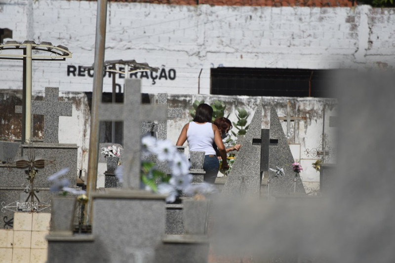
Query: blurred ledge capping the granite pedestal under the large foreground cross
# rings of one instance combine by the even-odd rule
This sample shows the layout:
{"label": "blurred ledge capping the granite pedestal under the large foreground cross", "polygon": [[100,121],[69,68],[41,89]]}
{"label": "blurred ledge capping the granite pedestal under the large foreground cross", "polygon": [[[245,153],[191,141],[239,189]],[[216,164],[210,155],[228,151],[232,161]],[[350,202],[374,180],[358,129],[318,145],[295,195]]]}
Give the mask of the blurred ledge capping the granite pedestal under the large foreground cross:
{"label": "blurred ledge capping the granite pedestal under the large foreground cross", "polygon": [[107,188],[106,193],[92,193],[93,199],[166,199],[166,195],[145,190],[125,190]]}

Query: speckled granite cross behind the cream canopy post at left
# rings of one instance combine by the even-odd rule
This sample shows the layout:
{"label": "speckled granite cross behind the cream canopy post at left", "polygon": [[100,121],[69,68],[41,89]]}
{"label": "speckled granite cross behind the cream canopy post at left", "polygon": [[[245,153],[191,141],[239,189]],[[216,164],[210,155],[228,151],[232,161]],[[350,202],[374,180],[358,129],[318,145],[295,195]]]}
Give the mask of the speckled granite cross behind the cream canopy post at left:
{"label": "speckled granite cross behind the cream canopy post at left", "polygon": [[[32,114],[44,115],[44,143],[59,143],[59,116],[72,116],[72,112],[71,102],[59,101],[59,88],[45,87],[44,100],[32,101]],[[22,106],[16,106],[15,113],[22,113]]]}

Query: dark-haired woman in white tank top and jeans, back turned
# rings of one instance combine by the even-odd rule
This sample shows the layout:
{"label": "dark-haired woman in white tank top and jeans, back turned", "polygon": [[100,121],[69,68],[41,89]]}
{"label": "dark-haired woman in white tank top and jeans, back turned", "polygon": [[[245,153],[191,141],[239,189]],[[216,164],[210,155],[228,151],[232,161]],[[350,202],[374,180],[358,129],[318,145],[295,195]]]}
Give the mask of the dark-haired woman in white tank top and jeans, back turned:
{"label": "dark-haired woman in white tank top and jeans, back turned", "polygon": [[204,174],[204,181],[214,184],[218,174],[219,162],[213,143],[217,145],[223,160],[222,169],[229,169],[229,165],[226,162],[226,151],[221,134],[217,126],[211,123],[212,115],[213,109],[211,106],[205,103],[200,104],[196,109],[194,120],[185,124],[182,128],[176,145],[182,146],[185,141],[188,141],[189,150],[205,152],[203,170],[206,173]]}

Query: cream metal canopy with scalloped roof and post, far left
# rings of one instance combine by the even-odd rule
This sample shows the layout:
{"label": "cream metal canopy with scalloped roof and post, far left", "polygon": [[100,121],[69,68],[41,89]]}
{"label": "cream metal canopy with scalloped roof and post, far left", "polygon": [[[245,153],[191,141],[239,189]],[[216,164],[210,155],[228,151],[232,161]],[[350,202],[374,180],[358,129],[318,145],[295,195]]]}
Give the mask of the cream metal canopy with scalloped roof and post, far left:
{"label": "cream metal canopy with scalloped roof and post, far left", "polygon": [[[7,50],[21,50],[18,52],[6,53]],[[33,54],[33,51],[38,51]],[[47,55],[44,52],[49,52]],[[33,60],[66,60],[71,58],[72,53],[63,45],[54,46],[51,42],[43,41],[37,44],[32,40],[7,41],[0,44],[0,59],[23,60],[23,96],[22,96],[22,143],[29,143],[31,140],[31,120],[32,120],[32,61]],[[23,153],[22,153],[23,154]]]}

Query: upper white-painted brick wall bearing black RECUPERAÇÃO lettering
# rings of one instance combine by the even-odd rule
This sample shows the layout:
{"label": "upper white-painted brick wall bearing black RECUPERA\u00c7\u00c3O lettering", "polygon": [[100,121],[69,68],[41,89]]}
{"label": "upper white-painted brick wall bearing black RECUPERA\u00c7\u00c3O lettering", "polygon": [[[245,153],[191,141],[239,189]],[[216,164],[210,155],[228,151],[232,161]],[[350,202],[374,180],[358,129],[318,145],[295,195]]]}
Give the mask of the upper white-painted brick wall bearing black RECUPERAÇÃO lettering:
{"label": "upper white-painted brick wall bearing black RECUPERA\u00c7\u00c3O lettering", "polygon": [[[92,74],[81,66],[94,61],[96,9],[96,1],[0,3],[1,27],[12,30],[14,40],[50,41],[73,53],[66,61],[34,61],[33,90],[92,90]],[[136,75],[143,79],[142,92],[196,94],[199,85],[201,94],[209,94],[210,69],[216,67],[392,65],[394,22],[394,9],[367,5],[273,8],[109,2],[105,59],[135,59],[158,67],[158,73]],[[117,76],[119,88],[121,77]],[[22,63],[1,60],[0,79],[1,89],[21,89]],[[111,91],[111,85],[107,74],[104,91]]]}

